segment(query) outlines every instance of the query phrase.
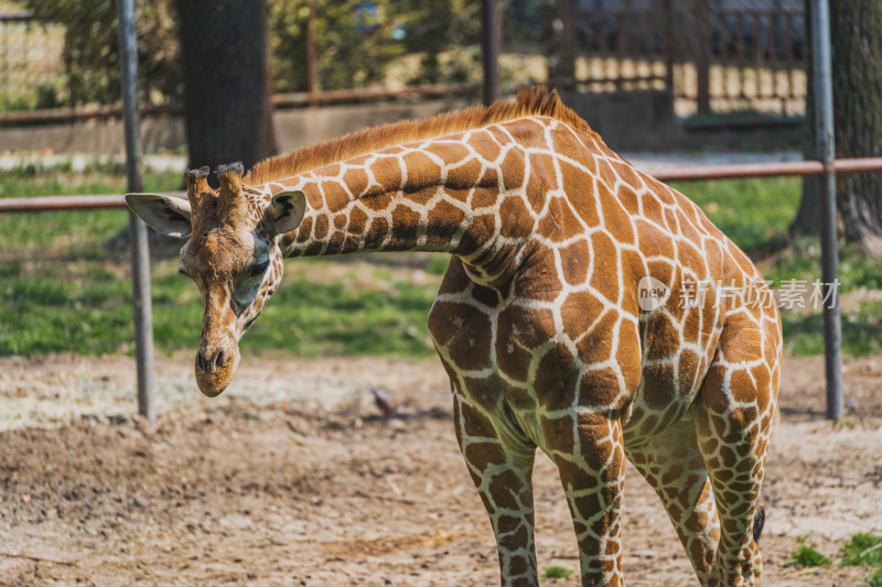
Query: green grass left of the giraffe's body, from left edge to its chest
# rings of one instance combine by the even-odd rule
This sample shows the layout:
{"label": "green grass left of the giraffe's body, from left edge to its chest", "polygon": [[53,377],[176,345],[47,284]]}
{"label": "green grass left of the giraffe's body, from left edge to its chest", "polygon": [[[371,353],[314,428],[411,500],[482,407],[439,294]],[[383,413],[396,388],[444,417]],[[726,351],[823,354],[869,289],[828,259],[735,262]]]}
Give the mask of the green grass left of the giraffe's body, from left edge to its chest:
{"label": "green grass left of the giraffe's body, from left edge to its chest", "polygon": [[[148,175],[144,183],[147,191],[179,189],[181,174]],[[114,164],[85,174],[30,167],[0,172],[0,197],[122,193],[125,184],[125,170]],[[122,210],[0,215],[0,356],[132,350],[127,226]],[[179,243],[165,248],[152,267],[154,344],[166,352],[192,350],[202,303],[176,272]],[[431,256],[423,269],[443,273],[445,261]],[[309,264],[298,273],[318,274],[335,262],[287,261]],[[289,276],[243,338],[243,352],[429,355],[426,318],[435,291],[434,282],[399,280],[372,291]]]}

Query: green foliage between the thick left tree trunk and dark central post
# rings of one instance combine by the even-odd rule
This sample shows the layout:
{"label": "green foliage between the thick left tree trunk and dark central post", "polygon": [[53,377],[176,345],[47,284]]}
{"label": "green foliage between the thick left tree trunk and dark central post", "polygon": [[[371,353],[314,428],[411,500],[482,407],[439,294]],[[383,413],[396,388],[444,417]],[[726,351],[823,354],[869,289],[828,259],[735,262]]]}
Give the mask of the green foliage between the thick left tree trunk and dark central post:
{"label": "green foliage between the thick left tree trunk and dark central post", "polygon": [[[319,85],[324,89],[365,87],[383,80],[401,55],[420,53],[410,83],[465,79],[477,66],[477,2],[465,0],[342,0],[319,2],[315,45]],[[306,88],[306,0],[269,0],[272,77],[279,91]],[[462,48],[465,47],[465,48]],[[440,54],[461,50],[442,63]]]}

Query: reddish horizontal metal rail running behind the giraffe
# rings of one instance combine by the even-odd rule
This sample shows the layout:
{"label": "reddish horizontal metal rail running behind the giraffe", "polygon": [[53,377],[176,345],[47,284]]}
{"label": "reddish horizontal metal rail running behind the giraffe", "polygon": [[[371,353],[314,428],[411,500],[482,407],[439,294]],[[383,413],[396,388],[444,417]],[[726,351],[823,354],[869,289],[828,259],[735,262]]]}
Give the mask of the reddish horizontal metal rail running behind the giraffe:
{"label": "reddish horizontal metal rail running behind the giraffe", "polygon": [[[836,173],[882,172],[882,157],[840,159],[833,162]],[[662,182],[697,182],[706,180],[739,180],[793,175],[822,175],[820,161],[782,161],[773,163],[742,163],[736,165],[688,165],[647,172]],[[186,192],[170,192],[173,197],[186,197]],[[0,213],[29,213],[53,210],[87,210],[125,208],[126,196],[35,196],[28,198],[0,198]]]}

